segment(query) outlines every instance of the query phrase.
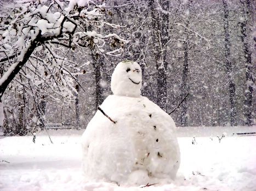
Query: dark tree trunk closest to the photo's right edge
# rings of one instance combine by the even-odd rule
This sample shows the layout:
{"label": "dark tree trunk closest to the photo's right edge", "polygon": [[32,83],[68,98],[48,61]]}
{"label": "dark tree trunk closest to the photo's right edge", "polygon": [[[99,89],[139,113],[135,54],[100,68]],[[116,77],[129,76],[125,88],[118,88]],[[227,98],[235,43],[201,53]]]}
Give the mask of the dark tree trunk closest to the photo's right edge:
{"label": "dark tree trunk closest to the photo's right edge", "polygon": [[247,0],[246,4],[243,3],[243,14],[244,21],[241,22],[241,40],[243,43],[244,58],[246,59],[246,91],[244,98],[244,117],[246,121],[244,122],[246,126],[252,126],[252,98],[253,98],[253,76],[252,76],[252,52],[249,50],[247,28],[248,28],[248,16],[249,7],[251,2]]}

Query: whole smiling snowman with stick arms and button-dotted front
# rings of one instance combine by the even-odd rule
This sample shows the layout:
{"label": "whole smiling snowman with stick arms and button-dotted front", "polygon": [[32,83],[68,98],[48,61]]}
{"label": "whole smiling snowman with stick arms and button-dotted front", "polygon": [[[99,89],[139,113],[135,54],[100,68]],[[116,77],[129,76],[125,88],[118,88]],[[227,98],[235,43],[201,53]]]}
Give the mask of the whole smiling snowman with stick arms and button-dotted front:
{"label": "whole smiling snowman with stick arms and button-dotted front", "polygon": [[82,168],[87,181],[118,185],[169,183],[177,174],[180,151],[175,123],[140,95],[141,68],[117,64],[107,97],[82,135]]}

